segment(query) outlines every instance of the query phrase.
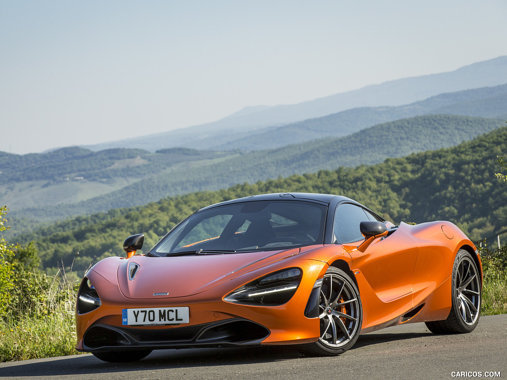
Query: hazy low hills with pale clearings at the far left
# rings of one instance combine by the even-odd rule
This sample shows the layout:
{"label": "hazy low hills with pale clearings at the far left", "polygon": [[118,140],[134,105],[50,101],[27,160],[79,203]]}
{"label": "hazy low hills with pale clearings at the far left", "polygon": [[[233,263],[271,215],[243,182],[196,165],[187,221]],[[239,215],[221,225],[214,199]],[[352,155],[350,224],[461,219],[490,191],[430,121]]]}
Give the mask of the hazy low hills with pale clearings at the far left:
{"label": "hazy low hills with pale clearings at the far left", "polygon": [[[164,171],[211,165],[237,151],[189,148],[107,149],[67,147],[49,153],[0,152],[0,203],[11,211],[73,204],[105,195]],[[147,201],[148,202],[148,201]]]}

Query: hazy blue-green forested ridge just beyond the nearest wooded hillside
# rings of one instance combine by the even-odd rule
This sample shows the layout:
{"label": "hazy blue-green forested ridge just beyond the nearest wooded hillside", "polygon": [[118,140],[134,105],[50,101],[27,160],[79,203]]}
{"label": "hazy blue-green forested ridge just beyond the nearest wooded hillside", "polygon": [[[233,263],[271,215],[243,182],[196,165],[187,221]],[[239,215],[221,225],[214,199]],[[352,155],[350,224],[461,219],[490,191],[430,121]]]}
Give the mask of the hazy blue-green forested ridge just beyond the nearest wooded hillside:
{"label": "hazy blue-green forested ridge just beyond the nearest wooded hillside", "polygon": [[[283,148],[222,157],[193,166],[174,166],[125,187],[82,202],[51,207],[12,210],[10,217],[22,230],[21,219],[51,221],[70,215],[142,205],[161,198],[225,188],[237,183],[336,169],[339,166],[371,165],[389,157],[403,157],[423,150],[457,145],[503,127],[505,121],[449,115],[419,116],[380,124],[341,138],[313,140]],[[154,154],[155,156],[158,154]],[[145,157],[146,159],[149,156]],[[152,159],[151,159],[152,160]],[[196,162],[197,163],[197,162]],[[136,169],[142,170],[143,166]],[[146,170],[151,166],[144,165]],[[52,193],[59,187],[54,186]],[[311,191],[311,189],[309,189]],[[25,229],[28,231],[29,229]]]}

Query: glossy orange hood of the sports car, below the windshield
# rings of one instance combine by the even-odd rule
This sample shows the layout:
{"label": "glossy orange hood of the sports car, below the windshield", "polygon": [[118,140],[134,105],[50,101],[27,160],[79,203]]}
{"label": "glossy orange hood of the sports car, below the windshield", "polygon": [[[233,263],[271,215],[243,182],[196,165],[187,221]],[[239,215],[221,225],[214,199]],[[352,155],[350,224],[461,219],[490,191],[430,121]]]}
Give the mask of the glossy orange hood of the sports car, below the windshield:
{"label": "glossy orange hood of the sports car, below the windshield", "polygon": [[118,285],[128,298],[185,297],[299,252],[297,248],[224,255],[133,256],[118,266]]}

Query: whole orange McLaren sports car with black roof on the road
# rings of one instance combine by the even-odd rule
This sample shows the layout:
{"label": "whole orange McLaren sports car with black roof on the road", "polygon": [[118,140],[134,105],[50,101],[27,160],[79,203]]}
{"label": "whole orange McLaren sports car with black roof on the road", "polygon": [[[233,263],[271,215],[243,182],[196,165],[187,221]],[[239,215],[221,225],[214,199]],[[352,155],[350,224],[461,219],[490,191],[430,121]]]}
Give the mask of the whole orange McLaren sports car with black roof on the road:
{"label": "whole orange McLaren sports car with black roof on the road", "polygon": [[298,344],[337,355],[359,334],[425,322],[474,330],[477,249],[454,224],[393,225],[345,197],[284,193],[203,208],[146,254],[143,235],[85,275],[78,351],[132,361],[156,349]]}

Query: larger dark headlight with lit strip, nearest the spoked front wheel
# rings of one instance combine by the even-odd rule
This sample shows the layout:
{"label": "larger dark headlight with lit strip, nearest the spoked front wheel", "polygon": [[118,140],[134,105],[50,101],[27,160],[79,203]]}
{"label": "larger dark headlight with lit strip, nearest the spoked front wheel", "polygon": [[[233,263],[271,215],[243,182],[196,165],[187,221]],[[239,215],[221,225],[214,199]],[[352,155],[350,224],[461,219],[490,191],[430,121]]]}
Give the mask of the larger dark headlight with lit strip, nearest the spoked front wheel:
{"label": "larger dark headlight with lit strip, nearest the spoked front wheel", "polygon": [[244,305],[283,305],[296,293],[302,277],[303,272],[299,268],[284,269],[243,285],[224,300]]}

